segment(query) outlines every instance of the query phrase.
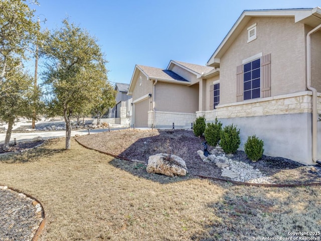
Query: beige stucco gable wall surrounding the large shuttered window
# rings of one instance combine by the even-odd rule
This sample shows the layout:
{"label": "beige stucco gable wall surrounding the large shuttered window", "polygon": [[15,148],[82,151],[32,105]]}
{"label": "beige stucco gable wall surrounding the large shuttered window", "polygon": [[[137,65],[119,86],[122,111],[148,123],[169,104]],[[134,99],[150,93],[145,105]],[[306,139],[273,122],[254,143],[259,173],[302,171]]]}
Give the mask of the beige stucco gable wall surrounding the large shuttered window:
{"label": "beige stucco gable wall surrounding the large shuttered window", "polygon": [[[257,39],[247,43],[247,28],[257,24]],[[246,58],[271,54],[271,96],[305,91],[304,25],[294,18],[252,18],[221,58],[222,104],[236,102],[236,67]]]}

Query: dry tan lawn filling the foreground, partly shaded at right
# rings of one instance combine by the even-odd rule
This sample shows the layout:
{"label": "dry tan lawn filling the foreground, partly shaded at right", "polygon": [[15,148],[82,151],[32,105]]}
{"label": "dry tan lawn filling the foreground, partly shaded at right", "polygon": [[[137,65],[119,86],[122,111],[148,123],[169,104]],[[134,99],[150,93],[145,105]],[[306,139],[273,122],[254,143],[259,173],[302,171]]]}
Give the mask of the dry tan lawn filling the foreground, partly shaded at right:
{"label": "dry tan lawn filling the foreground, partly shaded at right", "polygon": [[[64,139],[0,157],[0,185],[44,205],[41,240],[253,240],[321,230],[321,188],[260,188],[147,174]],[[320,236],[317,236],[320,237]]]}

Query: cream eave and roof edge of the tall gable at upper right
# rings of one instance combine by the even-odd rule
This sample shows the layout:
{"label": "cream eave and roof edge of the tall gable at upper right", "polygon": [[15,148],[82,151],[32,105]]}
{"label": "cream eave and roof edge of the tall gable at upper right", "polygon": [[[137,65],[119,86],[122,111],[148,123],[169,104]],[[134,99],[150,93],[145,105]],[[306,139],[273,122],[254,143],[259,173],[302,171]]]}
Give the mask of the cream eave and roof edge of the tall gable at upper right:
{"label": "cream eave and roof edge of the tall gable at upper right", "polygon": [[294,22],[316,27],[321,23],[321,9],[285,9],[285,10],[246,10],[238,18],[207,62],[207,66],[219,66],[220,58],[237,38],[252,17],[294,17]]}

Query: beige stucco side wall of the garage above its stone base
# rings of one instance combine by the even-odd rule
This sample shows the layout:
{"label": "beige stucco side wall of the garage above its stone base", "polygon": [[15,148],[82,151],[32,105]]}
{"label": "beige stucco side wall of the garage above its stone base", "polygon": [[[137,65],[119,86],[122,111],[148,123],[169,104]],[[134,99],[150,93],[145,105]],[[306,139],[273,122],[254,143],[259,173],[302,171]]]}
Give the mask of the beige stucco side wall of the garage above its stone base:
{"label": "beige stucco side wall of the garage above its stone base", "polygon": [[199,107],[198,84],[187,86],[159,81],[154,94],[156,111],[195,113]]}

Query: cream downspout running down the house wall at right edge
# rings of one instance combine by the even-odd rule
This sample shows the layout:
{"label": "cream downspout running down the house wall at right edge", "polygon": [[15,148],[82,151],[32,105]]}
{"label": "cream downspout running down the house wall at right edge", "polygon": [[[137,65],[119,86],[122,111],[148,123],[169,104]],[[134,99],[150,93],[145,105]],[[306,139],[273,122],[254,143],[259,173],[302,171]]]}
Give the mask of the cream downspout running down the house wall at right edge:
{"label": "cream downspout running down the house wall at right edge", "polygon": [[321,29],[321,24],[312,29],[306,35],[306,87],[312,91],[312,160],[318,164],[316,159],[317,150],[317,91],[311,86],[311,35]]}

